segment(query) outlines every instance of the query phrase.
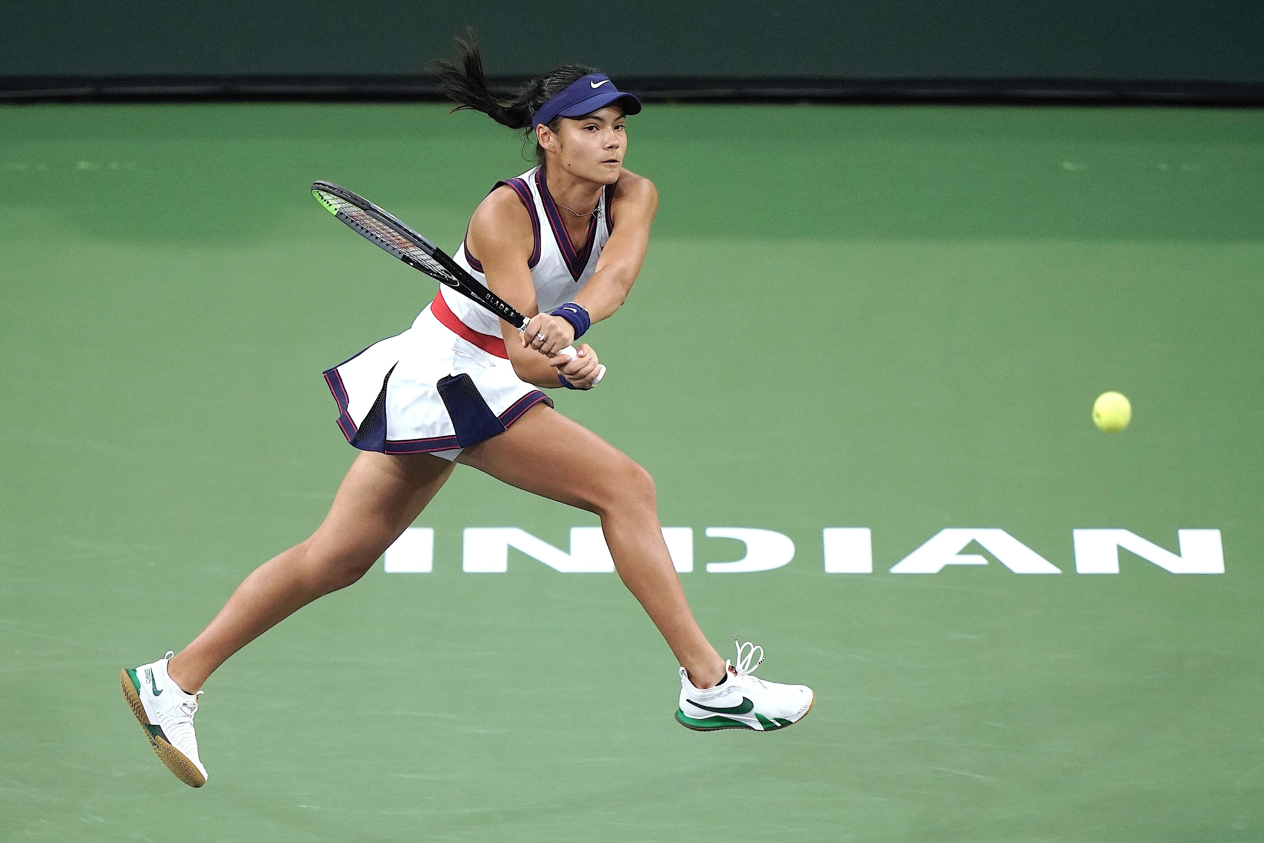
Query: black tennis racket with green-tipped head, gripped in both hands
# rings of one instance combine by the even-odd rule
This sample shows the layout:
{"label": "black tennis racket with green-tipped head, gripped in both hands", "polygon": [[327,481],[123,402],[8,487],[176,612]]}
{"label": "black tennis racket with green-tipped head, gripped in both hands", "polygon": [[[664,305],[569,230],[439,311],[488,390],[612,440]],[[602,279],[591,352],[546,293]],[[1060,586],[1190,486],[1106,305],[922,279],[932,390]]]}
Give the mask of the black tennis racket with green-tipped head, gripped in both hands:
{"label": "black tennis racket with green-tipped head, gripped in both hands", "polygon": [[[312,196],[325,206],[330,214],[351,230],[359,233],[365,240],[382,246],[394,257],[403,260],[413,269],[420,269],[441,284],[447,284],[460,294],[482,305],[520,331],[525,331],[530,317],[523,316],[504,300],[478,282],[478,279],[465,272],[460,264],[449,258],[434,243],[421,236],[407,225],[387,214],[380,207],[356,196],[345,187],[339,187],[331,182],[313,182]],[[568,345],[557,354],[569,356],[571,360],[579,356],[575,346]],[[605,367],[599,365],[597,377],[593,378],[595,387],[605,377]]]}

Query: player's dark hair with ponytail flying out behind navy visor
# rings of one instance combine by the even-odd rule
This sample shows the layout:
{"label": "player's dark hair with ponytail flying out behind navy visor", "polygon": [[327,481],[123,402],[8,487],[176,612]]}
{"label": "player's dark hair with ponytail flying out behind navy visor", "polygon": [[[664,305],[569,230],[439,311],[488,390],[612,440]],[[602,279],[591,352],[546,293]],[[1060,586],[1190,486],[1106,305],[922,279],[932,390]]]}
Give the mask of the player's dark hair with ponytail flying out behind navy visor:
{"label": "player's dark hair with ponytail flying out behind navy visor", "polygon": [[[466,32],[465,38],[456,39],[456,49],[461,54],[461,67],[442,58],[435,62],[439,87],[449,99],[460,104],[453,111],[463,109],[482,111],[501,125],[523,129],[530,140],[535,140],[536,136],[531,128],[531,116],[541,105],[566,90],[575,80],[589,73],[600,73],[595,67],[562,64],[528,81],[509,99],[501,99],[487,87],[487,78],[483,76],[483,57],[478,52],[478,42],[474,39],[473,29]],[[561,116],[556,116],[545,125],[556,131],[561,120]],[[545,150],[538,143],[536,144],[536,161],[540,164],[545,163]]]}

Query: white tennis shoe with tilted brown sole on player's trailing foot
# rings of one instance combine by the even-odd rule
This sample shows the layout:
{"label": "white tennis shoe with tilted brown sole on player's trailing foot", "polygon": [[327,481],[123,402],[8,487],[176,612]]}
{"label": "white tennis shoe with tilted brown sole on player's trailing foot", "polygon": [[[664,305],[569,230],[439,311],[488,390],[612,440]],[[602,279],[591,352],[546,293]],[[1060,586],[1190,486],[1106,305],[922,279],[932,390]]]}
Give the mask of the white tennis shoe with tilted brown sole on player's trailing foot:
{"label": "white tennis shoe with tilted brown sole on player's trailing foot", "polygon": [[193,714],[197,713],[201,691],[186,694],[171,680],[167,675],[167,660],[171,657],[168,652],[155,662],[128,667],[119,675],[119,682],[158,758],[182,782],[201,787],[206,784],[206,767],[197,758],[197,737],[193,734]]}

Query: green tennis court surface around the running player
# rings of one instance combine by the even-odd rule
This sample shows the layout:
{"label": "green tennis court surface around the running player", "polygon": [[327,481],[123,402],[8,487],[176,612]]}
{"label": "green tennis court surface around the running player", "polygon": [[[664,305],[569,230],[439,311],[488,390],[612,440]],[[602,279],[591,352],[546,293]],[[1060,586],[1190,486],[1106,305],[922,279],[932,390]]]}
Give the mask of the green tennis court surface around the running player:
{"label": "green tennis court surface around the running player", "polygon": [[[434,570],[378,565],[228,662],[197,719],[212,779],[177,781],[119,669],[319,523],[354,456],[321,370],[435,293],[308,185],[450,249],[531,164],[439,105],[9,106],[0,837],[155,839],[162,815],[183,840],[1264,838],[1264,112],[628,124],[662,196],[650,255],[585,337],[607,380],[554,397],[691,528],[720,653],[761,643],[811,715],[680,728],[671,653],[613,574],[518,550],[463,571],[465,530],[566,551],[595,518],[459,468],[416,525]],[[1107,389],[1133,402],[1117,435],[1090,420]],[[708,573],[746,552],[709,528],[794,557]],[[827,528],[868,528],[873,573],[827,573]],[[1072,531],[1107,528],[1168,562],[1193,557],[1178,530],[1218,531],[1224,573],[1127,550],[1077,573]],[[986,538],[890,573],[943,530],[1060,574]]]}

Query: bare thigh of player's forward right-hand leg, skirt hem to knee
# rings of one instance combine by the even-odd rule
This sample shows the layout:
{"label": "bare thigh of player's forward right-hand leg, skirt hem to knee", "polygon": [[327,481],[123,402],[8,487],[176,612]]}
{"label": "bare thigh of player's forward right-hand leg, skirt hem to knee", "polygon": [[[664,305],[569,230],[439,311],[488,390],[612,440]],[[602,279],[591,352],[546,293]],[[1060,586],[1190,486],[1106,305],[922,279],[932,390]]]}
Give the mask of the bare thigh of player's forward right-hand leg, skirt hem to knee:
{"label": "bare thigh of player's forward right-hand leg, skirt hem to knee", "polygon": [[653,480],[645,469],[545,404],[528,409],[503,434],[466,447],[458,461],[581,509],[653,507]]}

